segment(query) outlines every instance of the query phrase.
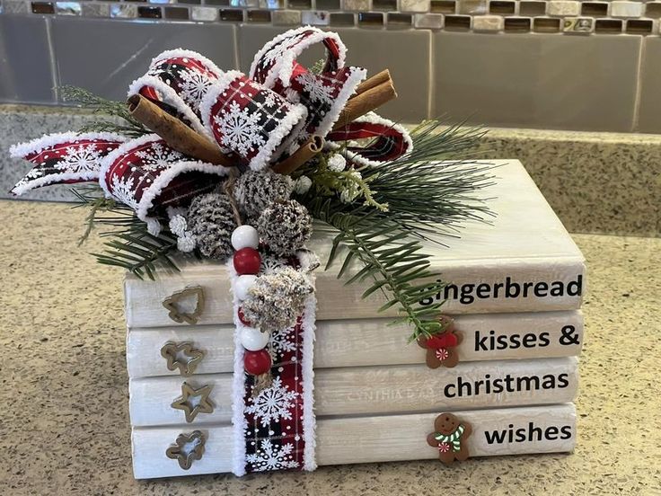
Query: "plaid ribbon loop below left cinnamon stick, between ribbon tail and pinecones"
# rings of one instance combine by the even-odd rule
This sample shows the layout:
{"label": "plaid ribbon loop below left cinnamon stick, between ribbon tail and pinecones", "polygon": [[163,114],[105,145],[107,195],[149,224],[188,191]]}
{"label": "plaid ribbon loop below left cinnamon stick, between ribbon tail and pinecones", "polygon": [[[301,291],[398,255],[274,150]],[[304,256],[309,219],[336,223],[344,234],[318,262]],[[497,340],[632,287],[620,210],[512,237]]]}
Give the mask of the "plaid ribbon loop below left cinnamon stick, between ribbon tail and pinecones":
{"label": "plaid ribbon loop below left cinnamon stick, between ribbon tail and pinecones", "polygon": [[214,190],[217,176],[229,171],[181,154],[158,135],[147,135],[106,156],[99,183],[106,195],[133,208],[137,217],[149,224],[154,214],[169,207],[186,207],[195,196]]}

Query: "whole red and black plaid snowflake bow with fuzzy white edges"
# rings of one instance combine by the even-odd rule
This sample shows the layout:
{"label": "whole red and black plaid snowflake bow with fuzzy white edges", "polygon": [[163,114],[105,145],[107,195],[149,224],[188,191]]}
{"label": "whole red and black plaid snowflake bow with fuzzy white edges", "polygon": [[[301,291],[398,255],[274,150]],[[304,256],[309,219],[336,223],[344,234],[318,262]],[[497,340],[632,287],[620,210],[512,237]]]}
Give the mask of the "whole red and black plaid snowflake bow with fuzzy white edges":
{"label": "whole red and black plaid snowflake bow with fuzzy white edges", "polygon": [[[296,61],[316,43],[327,55],[320,74]],[[270,40],[255,56],[249,76],[222,71],[190,50],[167,50],[130,84],[128,96],[154,102],[216,143],[241,168],[269,167],[312,135],[325,137],[329,148],[355,164],[383,164],[406,154],[412,147],[409,134],[374,113],[333,130],[366,77],[365,69],[345,66],[346,52],[336,33],[309,26]],[[368,145],[357,146],[354,141],[360,139]],[[154,234],[159,229],[155,213],[187,205],[213,188],[213,176],[229,173],[181,154],[157,135],[52,134],[13,146],[11,155],[34,164],[14,194],[48,184],[98,181],[109,197],[134,208]]]}

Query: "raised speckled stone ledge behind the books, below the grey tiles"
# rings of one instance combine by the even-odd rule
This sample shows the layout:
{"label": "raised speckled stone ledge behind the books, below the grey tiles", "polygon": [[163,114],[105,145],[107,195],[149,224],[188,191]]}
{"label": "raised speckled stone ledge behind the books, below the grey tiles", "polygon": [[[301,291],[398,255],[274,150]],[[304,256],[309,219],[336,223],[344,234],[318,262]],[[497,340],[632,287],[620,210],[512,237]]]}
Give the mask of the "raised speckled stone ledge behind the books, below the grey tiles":
{"label": "raised speckled stone ledge behind the books, below the grey tiles", "polygon": [[[30,170],[9,146],[90,120],[75,108],[0,105],[0,198]],[[493,128],[476,156],[521,160],[571,232],[661,235],[661,135]],[[58,185],[24,198],[74,196]]]}

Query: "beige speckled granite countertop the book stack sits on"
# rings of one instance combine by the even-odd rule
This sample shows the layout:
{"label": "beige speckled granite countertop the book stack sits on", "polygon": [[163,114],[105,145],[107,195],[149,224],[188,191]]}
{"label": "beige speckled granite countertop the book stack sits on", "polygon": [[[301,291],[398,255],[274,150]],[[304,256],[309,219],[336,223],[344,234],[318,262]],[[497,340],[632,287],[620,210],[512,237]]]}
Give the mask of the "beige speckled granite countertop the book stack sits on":
{"label": "beige speckled granite countertop the book stack sits on", "polygon": [[588,264],[572,455],[322,467],[313,474],[131,474],[122,273],[85,211],[0,201],[0,484],[19,494],[659,494],[661,239],[576,235]]}

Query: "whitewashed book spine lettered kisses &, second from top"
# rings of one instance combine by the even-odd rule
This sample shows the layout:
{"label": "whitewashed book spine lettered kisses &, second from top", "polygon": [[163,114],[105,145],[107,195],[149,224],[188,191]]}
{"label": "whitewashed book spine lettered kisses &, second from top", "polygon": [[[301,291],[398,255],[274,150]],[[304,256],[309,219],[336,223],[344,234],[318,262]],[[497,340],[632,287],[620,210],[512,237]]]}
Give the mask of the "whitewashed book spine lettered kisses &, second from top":
{"label": "whitewashed book spine lettered kisses &, second from top", "polygon": [[[457,315],[454,326],[463,341],[457,346],[461,362],[576,356],[583,345],[580,311],[527,314]],[[196,373],[232,372],[233,328],[187,326],[129,329],[128,376],[174,376],[160,350],[168,341],[189,341],[205,352]],[[427,350],[408,342],[406,323],[390,319],[317,322],[314,368],[424,364]]]}

